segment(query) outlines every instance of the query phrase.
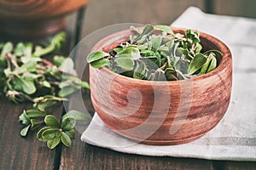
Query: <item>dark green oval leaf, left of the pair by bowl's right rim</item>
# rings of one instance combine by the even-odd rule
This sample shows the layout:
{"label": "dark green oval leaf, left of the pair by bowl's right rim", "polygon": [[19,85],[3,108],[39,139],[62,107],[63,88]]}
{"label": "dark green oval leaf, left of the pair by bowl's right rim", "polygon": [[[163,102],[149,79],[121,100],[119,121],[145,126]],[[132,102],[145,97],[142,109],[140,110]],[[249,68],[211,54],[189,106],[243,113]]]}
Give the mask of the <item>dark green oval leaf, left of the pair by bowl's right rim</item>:
{"label": "dark green oval leaf, left of the pair by bowl's right rim", "polygon": [[196,71],[199,71],[201,67],[207,62],[207,58],[203,54],[195,55],[195,58],[191,60],[189,64],[188,73],[190,75],[194,74]]}

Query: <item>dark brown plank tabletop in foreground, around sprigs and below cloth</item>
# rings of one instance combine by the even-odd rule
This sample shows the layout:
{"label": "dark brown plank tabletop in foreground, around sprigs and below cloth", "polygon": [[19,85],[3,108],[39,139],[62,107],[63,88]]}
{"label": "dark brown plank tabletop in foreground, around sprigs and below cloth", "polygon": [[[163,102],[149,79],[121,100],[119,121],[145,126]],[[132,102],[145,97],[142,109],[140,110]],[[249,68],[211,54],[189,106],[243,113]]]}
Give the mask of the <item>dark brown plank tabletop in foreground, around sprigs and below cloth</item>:
{"label": "dark brown plank tabletop in foreground, around sprigs and below cloth", "polygon": [[[84,102],[90,113],[90,93],[84,93]],[[26,138],[20,136],[18,116],[31,104],[15,105],[6,99],[0,100],[0,169],[256,169],[256,162],[210,161],[202,159],[137,156],[103,149],[80,140],[76,133],[70,148],[58,145],[49,150],[45,143],[36,139],[35,133]],[[61,117],[61,104],[51,112]]]}

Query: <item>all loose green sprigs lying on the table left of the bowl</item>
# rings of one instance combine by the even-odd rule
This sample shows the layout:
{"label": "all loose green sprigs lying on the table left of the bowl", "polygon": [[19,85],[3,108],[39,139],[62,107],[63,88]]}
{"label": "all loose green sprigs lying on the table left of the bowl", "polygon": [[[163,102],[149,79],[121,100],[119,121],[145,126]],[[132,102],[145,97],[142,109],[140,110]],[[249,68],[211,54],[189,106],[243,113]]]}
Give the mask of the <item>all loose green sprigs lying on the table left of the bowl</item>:
{"label": "all loose green sprigs lying on the table left of the bowl", "polygon": [[90,122],[90,117],[79,111],[69,111],[62,116],[61,122],[47,113],[47,108],[80,88],[89,89],[74,70],[73,60],[55,55],[53,61],[42,58],[61,48],[66,34],[60,32],[49,40],[46,46],[33,47],[32,42],[0,43],[0,95],[20,103],[31,101],[34,109],[23,111],[19,121],[24,125],[20,131],[26,136],[29,131],[38,131],[38,139],[47,141],[49,149],[63,143],[70,146],[74,137],[77,120]]}

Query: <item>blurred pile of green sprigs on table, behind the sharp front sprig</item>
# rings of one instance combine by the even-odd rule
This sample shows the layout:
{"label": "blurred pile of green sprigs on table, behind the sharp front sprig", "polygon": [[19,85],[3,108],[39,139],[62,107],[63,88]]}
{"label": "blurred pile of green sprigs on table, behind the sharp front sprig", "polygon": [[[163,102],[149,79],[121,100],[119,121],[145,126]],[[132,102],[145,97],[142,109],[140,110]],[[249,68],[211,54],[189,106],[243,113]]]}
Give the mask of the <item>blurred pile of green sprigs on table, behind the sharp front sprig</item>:
{"label": "blurred pile of green sprigs on table, behind the sharp front sprig", "polygon": [[72,59],[55,55],[51,62],[42,58],[61,48],[65,35],[56,34],[45,47],[34,48],[32,42],[1,43],[0,94],[20,103],[46,94],[65,97],[79,88],[89,88],[77,77]]}

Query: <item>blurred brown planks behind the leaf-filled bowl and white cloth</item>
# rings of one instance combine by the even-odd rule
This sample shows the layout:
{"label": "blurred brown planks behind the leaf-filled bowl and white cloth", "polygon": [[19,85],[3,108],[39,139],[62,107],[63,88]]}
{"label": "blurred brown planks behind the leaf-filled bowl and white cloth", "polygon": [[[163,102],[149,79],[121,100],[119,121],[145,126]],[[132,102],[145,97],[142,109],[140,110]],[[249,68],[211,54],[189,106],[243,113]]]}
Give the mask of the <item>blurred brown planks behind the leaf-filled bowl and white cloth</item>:
{"label": "blurred brown planks behind the leaf-filled bowl and white cloth", "polygon": [[[212,14],[256,18],[255,0],[90,0],[81,37],[117,23],[170,25],[189,6]],[[67,23],[73,21],[73,15],[68,16]]]}

